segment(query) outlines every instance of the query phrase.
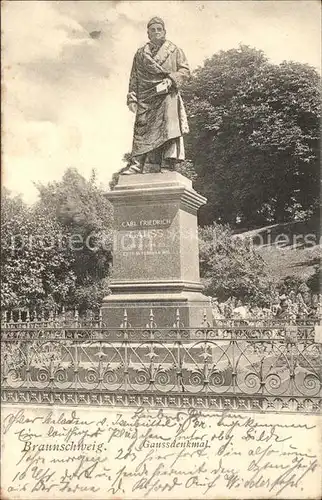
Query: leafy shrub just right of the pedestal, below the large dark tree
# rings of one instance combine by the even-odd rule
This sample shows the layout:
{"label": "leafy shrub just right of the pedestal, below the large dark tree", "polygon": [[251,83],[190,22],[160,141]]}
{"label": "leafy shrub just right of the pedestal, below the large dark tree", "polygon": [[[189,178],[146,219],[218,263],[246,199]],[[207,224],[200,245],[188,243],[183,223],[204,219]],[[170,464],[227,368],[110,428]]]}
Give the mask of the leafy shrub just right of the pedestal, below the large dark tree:
{"label": "leafy shrub just right of the pedestal, below the large dark tree", "polygon": [[230,297],[252,305],[267,305],[273,284],[250,240],[234,237],[228,225],[199,228],[200,272],[205,293],[225,301]]}

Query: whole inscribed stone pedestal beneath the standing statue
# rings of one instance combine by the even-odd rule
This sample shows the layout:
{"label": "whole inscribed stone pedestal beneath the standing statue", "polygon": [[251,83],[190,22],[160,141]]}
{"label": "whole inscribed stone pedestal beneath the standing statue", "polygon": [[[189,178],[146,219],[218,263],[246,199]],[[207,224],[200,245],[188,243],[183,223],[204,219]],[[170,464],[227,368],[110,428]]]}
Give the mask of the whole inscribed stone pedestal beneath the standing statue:
{"label": "whole inscribed stone pedestal beneath the standing statue", "polygon": [[114,206],[113,270],[102,314],[120,327],[124,310],[133,328],[145,327],[151,309],[157,327],[211,323],[199,277],[197,211],[206,199],[178,172],[120,176],[108,193]]}

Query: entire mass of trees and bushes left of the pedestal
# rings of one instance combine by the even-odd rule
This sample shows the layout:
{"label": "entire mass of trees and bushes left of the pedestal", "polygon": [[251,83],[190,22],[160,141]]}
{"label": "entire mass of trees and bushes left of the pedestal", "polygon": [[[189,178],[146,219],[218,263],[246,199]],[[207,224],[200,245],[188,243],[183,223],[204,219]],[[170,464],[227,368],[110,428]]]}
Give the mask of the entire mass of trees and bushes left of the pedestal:
{"label": "entire mass of trees and bushes left of the pedestal", "polygon": [[109,293],[112,207],[94,175],[73,169],[38,189],[33,206],[2,193],[2,306],[97,307]]}

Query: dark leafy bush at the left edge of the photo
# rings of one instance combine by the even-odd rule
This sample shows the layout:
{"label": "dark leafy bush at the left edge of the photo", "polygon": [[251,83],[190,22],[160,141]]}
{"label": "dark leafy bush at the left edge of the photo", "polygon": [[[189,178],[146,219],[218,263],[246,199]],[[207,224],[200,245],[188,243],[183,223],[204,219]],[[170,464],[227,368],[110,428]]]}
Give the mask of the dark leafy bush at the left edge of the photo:
{"label": "dark leafy bush at the left edge of the photo", "polygon": [[61,227],[45,207],[1,197],[1,304],[4,309],[64,303],[75,288],[73,256],[58,249]]}

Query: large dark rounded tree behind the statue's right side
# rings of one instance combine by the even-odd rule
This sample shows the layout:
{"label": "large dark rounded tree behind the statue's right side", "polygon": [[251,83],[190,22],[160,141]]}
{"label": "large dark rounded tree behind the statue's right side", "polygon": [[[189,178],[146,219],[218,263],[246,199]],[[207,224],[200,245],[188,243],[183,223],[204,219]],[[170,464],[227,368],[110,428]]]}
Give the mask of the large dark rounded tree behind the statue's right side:
{"label": "large dark rounded tree behind the statue's right side", "polygon": [[319,199],[319,75],[268,62],[247,46],[221,51],[184,90],[187,157],[208,198],[202,225],[243,227],[305,217]]}

